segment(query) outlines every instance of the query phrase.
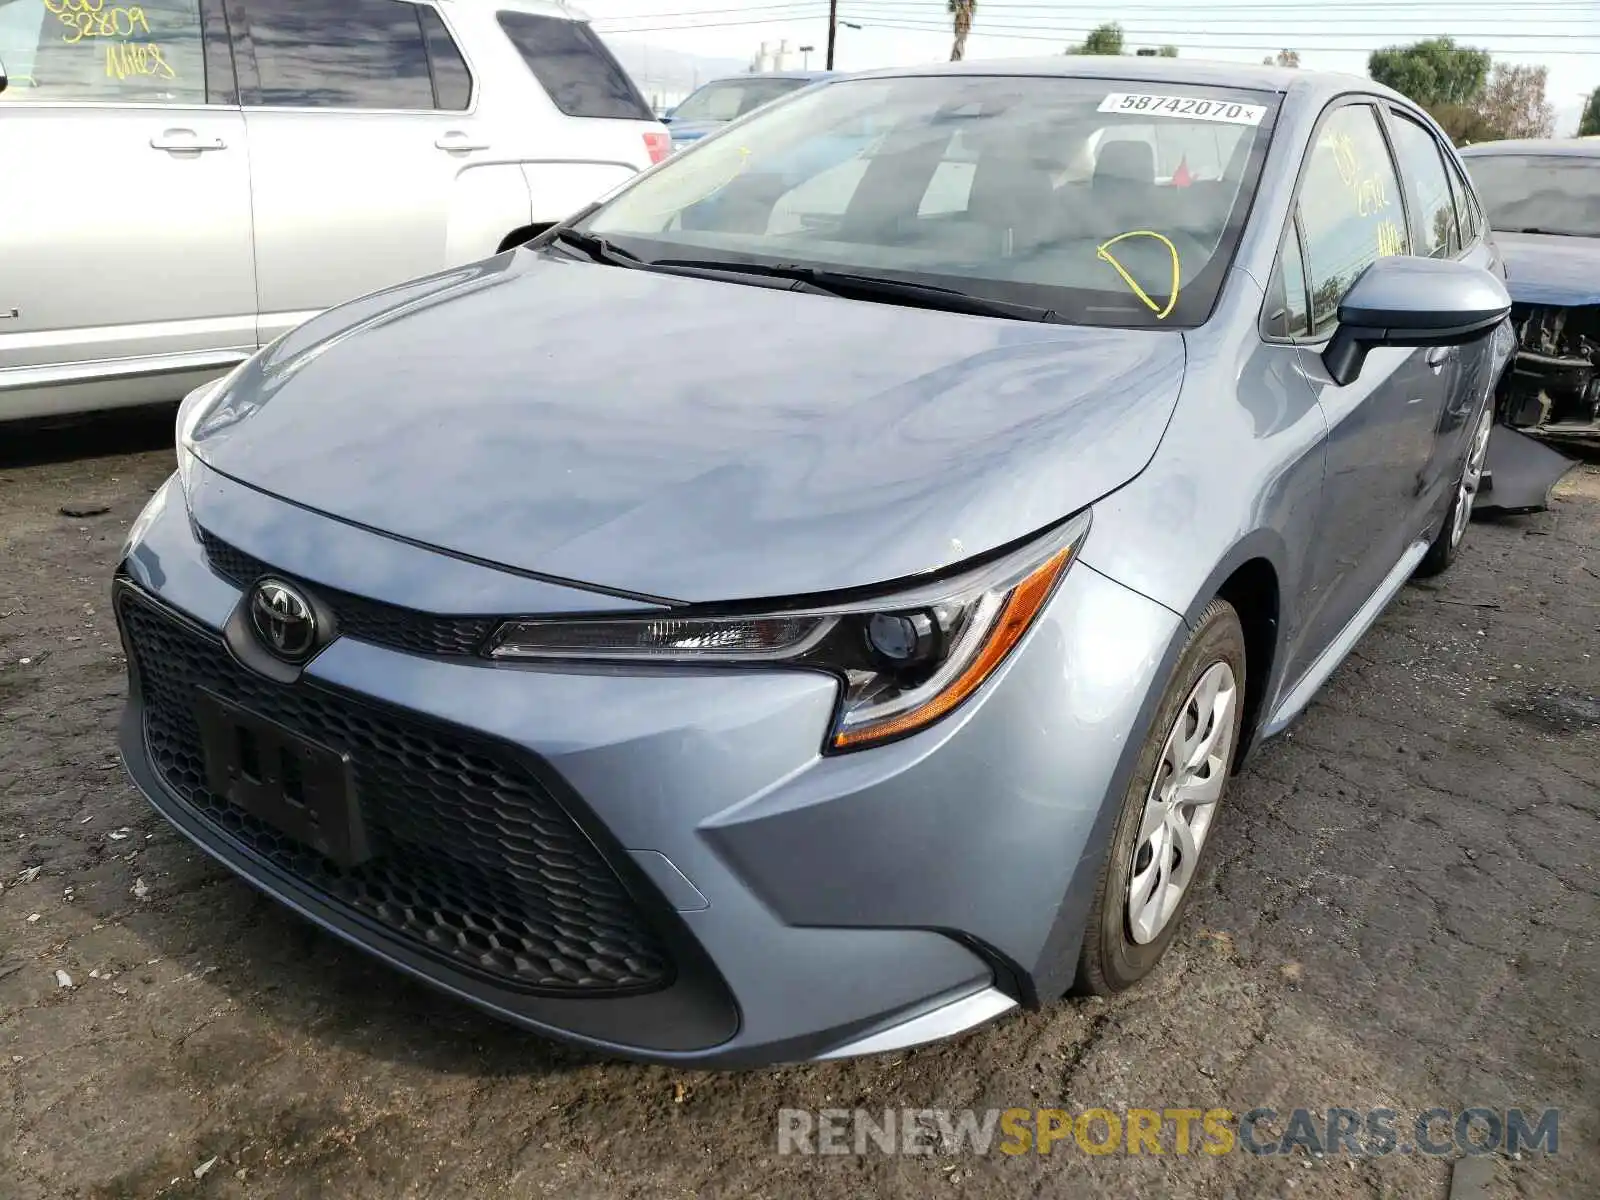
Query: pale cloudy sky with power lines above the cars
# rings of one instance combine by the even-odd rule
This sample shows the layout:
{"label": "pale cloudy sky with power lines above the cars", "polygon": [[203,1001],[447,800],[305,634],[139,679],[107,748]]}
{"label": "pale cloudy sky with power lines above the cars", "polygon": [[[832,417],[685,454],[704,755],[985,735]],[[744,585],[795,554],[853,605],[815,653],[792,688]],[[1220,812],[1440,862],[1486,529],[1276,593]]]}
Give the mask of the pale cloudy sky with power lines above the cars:
{"label": "pale cloudy sky with power lines above the cars", "polygon": [[[827,0],[576,0],[608,40],[749,64],[762,42],[827,46]],[[835,67],[907,66],[950,54],[946,0],[838,0]],[[978,0],[968,59],[1059,54],[1101,21],[1130,46],[1173,43],[1184,58],[1261,62],[1280,48],[1301,66],[1365,74],[1386,45],[1450,35],[1496,61],[1549,69],[1557,133],[1576,128],[1582,96],[1600,86],[1600,0]],[[630,56],[632,58],[632,56]],[[795,54],[794,64],[800,66]]]}

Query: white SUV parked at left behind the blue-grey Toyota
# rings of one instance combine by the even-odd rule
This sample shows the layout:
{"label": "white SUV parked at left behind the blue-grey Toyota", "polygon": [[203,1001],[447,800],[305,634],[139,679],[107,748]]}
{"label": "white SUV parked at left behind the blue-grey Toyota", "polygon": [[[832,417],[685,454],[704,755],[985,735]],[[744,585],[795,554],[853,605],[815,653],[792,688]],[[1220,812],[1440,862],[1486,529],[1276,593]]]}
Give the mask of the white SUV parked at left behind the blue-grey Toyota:
{"label": "white SUV parked at left behind the blue-grey Toyota", "polygon": [[544,0],[0,0],[0,419],[176,400],[670,149]]}

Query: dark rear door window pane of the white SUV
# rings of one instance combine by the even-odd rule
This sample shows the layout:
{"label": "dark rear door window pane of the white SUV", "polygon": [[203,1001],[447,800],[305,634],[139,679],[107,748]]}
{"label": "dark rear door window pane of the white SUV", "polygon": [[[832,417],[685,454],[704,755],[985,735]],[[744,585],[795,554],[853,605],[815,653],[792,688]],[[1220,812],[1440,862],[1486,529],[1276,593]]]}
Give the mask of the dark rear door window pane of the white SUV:
{"label": "dark rear door window pane of the white SUV", "polygon": [[403,0],[250,0],[259,93],[296,109],[432,109],[418,6]]}

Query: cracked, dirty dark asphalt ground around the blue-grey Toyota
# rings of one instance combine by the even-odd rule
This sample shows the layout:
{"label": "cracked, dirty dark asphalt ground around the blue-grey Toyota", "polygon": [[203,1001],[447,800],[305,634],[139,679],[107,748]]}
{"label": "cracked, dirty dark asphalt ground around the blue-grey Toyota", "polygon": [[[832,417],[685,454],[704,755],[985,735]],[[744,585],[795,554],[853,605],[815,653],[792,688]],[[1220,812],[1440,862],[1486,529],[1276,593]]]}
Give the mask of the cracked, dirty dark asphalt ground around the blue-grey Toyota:
{"label": "cracked, dirty dark asphalt ground around the blue-grey Toyota", "polygon": [[109,578],[170,427],[0,434],[5,1200],[1451,1194],[1419,1155],[776,1150],[784,1107],[968,1106],[1560,1107],[1557,1155],[1483,1160],[1470,1195],[1600,1195],[1600,469],[1477,525],[1258,754],[1147,986],[890,1058],[686,1074],[400,979],[138,797]]}

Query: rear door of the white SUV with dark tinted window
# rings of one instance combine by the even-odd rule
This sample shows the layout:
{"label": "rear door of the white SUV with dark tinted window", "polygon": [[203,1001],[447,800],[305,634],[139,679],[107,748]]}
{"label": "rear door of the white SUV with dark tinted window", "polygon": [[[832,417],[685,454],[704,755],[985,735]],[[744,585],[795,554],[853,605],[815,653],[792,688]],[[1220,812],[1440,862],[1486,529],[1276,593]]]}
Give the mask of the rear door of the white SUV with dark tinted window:
{"label": "rear door of the white SUV with dark tinted window", "polygon": [[259,336],[446,264],[456,178],[485,158],[474,80],[408,0],[227,0],[250,130]]}

